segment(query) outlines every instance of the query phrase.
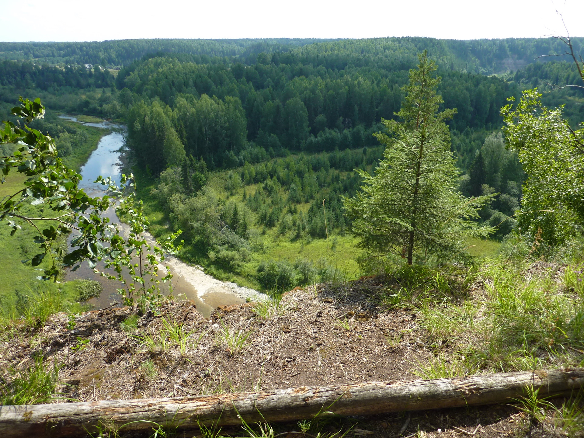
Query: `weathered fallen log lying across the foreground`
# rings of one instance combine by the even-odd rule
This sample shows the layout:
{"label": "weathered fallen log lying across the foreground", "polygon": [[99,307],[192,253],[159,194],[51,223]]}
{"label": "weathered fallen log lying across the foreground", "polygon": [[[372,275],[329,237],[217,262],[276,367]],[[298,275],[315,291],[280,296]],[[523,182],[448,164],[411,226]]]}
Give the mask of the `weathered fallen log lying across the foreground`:
{"label": "weathered fallen log lying across the foreground", "polygon": [[[152,422],[194,429],[197,421],[217,426],[287,422],[319,412],[371,415],[510,402],[527,388],[546,397],[584,387],[584,369],[523,371],[414,382],[370,382],[287,390],[49,405],[0,406],[2,438],[85,436],[98,427],[151,429]],[[149,423],[150,422],[150,423]]]}

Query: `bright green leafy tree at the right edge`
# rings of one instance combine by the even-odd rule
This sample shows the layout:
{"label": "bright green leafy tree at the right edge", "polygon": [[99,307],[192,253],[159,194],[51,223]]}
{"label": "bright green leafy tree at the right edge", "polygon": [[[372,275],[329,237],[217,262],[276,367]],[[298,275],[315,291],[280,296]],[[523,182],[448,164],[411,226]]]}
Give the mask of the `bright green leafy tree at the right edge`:
{"label": "bright green leafy tree at the right edge", "polygon": [[584,224],[584,130],[573,131],[561,108],[547,109],[537,90],[525,91],[515,109],[510,103],[501,113],[506,141],[529,176],[518,225],[531,241],[547,244],[538,251],[561,245]]}

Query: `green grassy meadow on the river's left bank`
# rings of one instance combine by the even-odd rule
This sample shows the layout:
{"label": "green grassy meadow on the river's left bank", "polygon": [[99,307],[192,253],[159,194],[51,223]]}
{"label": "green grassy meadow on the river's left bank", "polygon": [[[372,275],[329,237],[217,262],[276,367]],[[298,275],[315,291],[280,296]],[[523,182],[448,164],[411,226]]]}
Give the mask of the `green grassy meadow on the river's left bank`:
{"label": "green grassy meadow on the river's left bank", "polygon": [[[54,113],[47,114],[45,119],[37,120],[32,125],[54,133],[59,155],[64,163],[73,169],[79,169],[84,164],[89,154],[97,147],[100,138],[108,132],[103,128],[83,126],[59,119]],[[9,151],[12,150],[12,145],[0,145],[2,155],[9,155]],[[25,187],[25,181],[25,175],[14,173],[7,175],[4,183],[0,185],[0,199],[11,196]],[[38,217],[43,214],[44,208],[27,204],[23,206],[23,211],[32,217]],[[99,296],[102,286],[97,281],[75,280],[60,284],[39,282],[36,280],[39,271],[32,269],[30,265],[30,260],[37,252],[33,242],[36,230],[24,227],[13,236],[11,231],[9,227],[0,227],[2,263],[9,266],[9,269],[4,269],[0,273],[2,318],[23,314],[28,321],[36,324],[44,323],[51,312],[67,310],[75,314],[91,308],[84,303],[91,297]],[[66,251],[65,236],[58,237],[56,243],[61,250]],[[41,268],[46,266],[46,260],[39,265]]]}

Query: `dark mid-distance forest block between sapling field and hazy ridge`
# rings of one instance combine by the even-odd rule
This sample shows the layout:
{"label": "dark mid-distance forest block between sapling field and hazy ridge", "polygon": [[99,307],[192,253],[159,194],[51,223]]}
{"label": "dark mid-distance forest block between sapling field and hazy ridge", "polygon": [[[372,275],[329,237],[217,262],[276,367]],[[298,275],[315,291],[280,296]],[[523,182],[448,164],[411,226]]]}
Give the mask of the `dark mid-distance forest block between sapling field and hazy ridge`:
{"label": "dark mid-distance forest block between sapling field and hazy ridge", "polygon": [[[147,110],[152,105],[168,106],[166,112],[157,111],[155,118],[164,113],[186,154],[203,157],[211,168],[242,165],[237,157],[247,141],[272,150],[272,155],[281,150],[321,152],[373,146],[376,140],[371,134],[379,129],[380,120],[393,119],[401,106],[401,86],[408,75],[403,65],[394,69],[345,65],[338,70],[312,63],[288,64],[284,61],[293,61],[286,54],[260,55],[253,65],[154,57],[123,68],[116,85],[124,105],[132,106],[128,138],[138,157],[149,160],[150,168],[158,171],[169,164],[158,159],[160,154],[152,154],[144,139],[132,142],[138,138],[134,127],[144,126],[140,120],[154,120],[147,114],[155,110]],[[507,96],[517,94],[513,84],[497,77],[450,70],[442,74],[444,105],[459,109],[451,121],[453,130],[496,129],[499,107]],[[223,108],[234,110],[226,116]],[[220,120],[225,121],[216,122]]]}

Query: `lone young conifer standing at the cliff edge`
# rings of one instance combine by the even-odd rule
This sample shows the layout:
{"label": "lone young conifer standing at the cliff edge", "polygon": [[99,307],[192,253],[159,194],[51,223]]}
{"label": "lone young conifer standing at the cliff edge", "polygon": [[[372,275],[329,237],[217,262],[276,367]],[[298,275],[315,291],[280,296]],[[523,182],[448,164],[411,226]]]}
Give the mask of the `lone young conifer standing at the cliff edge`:
{"label": "lone young conifer standing at the cliff edge", "polygon": [[374,176],[360,171],[364,185],[344,199],[359,246],[376,255],[397,253],[409,265],[414,258],[464,259],[464,232],[484,237],[492,231],[471,221],[488,197],[454,191],[458,172],[444,121],[456,110],[438,112],[443,100],[436,94],[435,70],[427,53],[420,54],[396,113],[402,122],[382,119],[388,134],[376,134],[385,145],[384,159]]}

